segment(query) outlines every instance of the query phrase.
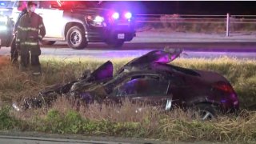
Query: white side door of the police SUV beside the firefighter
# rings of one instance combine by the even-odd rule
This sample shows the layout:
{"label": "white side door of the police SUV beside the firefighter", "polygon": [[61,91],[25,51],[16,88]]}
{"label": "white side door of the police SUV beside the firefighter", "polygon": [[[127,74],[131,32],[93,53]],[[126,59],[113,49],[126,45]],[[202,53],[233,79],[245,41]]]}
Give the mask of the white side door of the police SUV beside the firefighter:
{"label": "white side door of the police SUV beside the firefighter", "polygon": [[38,9],[35,10],[39,14],[46,27],[46,38],[63,38],[63,10],[51,8],[52,5],[58,5],[56,1],[40,1]]}

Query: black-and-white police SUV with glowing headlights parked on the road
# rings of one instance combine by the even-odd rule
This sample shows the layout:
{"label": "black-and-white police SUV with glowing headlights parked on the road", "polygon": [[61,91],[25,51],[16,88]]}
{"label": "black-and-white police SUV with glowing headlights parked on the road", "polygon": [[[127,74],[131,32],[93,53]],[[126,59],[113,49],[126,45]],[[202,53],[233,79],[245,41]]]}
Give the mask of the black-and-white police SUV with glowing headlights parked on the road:
{"label": "black-and-white police SUV with glowing headlights parked on the road", "polygon": [[[16,2],[11,14],[14,21],[19,13]],[[47,44],[66,41],[73,49],[83,49],[88,42],[106,42],[120,47],[135,36],[130,12],[98,8],[92,2],[38,1],[35,13],[43,19]]]}

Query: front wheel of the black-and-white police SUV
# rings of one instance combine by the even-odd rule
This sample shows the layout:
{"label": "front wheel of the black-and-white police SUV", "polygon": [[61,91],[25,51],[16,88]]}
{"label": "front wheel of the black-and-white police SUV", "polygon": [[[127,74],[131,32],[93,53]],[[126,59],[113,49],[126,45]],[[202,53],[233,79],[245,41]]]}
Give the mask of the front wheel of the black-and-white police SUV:
{"label": "front wheel of the black-and-white police SUV", "polygon": [[66,41],[67,44],[75,50],[82,50],[88,45],[84,30],[78,26],[73,26],[68,30]]}

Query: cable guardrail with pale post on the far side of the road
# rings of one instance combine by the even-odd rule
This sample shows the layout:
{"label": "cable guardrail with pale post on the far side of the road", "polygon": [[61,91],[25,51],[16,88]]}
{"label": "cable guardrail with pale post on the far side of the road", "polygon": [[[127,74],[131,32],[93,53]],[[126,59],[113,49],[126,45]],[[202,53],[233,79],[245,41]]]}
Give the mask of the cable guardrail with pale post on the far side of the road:
{"label": "cable guardrail with pale post on the far side of the road", "polygon": [[242,29],[242,25],[248,25],[247,28],[244,28],[245,30],[256,31],[256,15],[137,14],[135,18],[138,25],[139,23],[158,23],[163,27],[174,28],[179,23],[205,24],[206,26],[207,24],[215,24],[222,26],[227,37],[230,36],[230,31],[235,32]]}

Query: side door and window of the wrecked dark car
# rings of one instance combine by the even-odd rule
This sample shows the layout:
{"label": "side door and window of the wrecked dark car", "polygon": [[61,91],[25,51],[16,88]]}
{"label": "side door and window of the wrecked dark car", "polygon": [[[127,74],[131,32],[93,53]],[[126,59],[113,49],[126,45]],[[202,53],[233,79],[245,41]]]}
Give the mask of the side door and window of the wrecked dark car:
{"label": "side door and window of the wrecked dark car", "polygon": [[[130,79],[127,81],[127,79]],[[135,74],[114,88],[116,97],[129,98],[132,102],[142,102],[150,106],[170,109],[172,95],[168,94],[170,80],[158,74]]]}

